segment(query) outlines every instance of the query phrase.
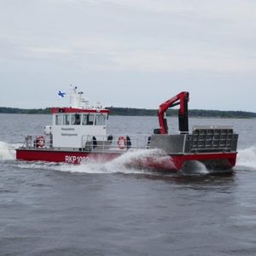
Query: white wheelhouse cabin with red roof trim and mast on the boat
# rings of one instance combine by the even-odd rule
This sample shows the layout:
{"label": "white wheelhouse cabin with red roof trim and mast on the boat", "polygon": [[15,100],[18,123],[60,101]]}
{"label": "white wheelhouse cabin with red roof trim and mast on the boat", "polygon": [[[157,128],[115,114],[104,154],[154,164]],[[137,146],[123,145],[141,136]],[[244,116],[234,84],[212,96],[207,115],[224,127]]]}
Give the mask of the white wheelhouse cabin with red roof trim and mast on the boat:
{"label": "white wheelhouse cabin with red roof trim and mast on the boat", "polygon": [[[84,104],[85,103],[85,104]],[[107,137],[108,109],[90,107],[82,92],[74,90],[70,108],[52,108],[52,125],[45,133],[52,137],[53,148],[84,148],[92,138],[102,141]]]}

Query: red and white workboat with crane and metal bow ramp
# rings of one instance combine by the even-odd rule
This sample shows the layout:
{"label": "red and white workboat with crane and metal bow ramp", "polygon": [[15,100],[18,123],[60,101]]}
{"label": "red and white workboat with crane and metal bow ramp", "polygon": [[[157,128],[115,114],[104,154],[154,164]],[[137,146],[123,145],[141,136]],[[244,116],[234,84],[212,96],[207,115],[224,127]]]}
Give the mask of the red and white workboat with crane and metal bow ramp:
{"label": "red and white workboat with crane and metal bow ramp", "polygon": [[[77,87],[70,94],[70,107],[51,108],[52,125],[41,135],[28,135],[16,159],[84,164],[109,161],[128,151],[149,150],[137,165],[162,171],[178,171],[191,163],[211,170],[230,170],[236,165],[238,134],[230,125],[195,125],[189,132],[189,92],[182,91],[160,104],[159,128],[145,137],[108,134],[109,109],[90,106]],[[179,106],[178,133],[169,134],[168,108]],[[156,150],[158,149],[158,151]],[[154,155],[154,152],[157,152]],[[161,154],[159,153],[161,152]]]}

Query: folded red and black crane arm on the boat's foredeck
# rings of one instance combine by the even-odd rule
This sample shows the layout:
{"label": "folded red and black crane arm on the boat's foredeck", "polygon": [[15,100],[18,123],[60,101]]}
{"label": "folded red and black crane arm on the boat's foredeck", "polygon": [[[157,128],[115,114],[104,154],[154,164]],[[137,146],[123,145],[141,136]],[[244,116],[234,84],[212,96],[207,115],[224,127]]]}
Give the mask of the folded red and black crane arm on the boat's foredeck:
{"label": "folded red and black crane arm on the boat's foredeck", "polygon": [[170,100],[160,104],[159,111],[158,111],[160,134],[168,133],[168,126],[166,124],[166,119],[164,117],[167,109],[177,105],[180,105],[180,108],[178,110],[179,131],[187,132],[189,130],[188,102],[189,102],[189,92],[182,91],[179,94],[177,94],[177,96],[174,96]]}

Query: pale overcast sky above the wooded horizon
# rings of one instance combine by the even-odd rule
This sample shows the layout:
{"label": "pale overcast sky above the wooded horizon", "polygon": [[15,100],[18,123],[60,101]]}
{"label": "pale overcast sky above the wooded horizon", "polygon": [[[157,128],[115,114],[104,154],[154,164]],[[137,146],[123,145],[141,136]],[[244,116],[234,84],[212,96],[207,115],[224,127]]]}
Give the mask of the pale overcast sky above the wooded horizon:
{"label": "pale overcast sky above the wooded horizon", "polygon": [[256,112],[255,0],[0,0],[0,107]]}

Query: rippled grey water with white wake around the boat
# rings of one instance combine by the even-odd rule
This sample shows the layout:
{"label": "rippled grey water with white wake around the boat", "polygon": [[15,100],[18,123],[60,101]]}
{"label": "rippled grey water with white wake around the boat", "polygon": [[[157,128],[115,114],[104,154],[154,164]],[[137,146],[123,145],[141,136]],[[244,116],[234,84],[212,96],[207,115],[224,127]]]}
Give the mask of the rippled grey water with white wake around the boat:
{"label": "rippled grey water with white wake around the boat", "polygon": [[[190,119],[240,134],[234,172],[212,175],[200,163],[184,173],[138,169],[134,159],[159,153],[143,150],[81,166],[17,162],[22,137],[50,116],[0,119],[0,255],[256,254],[256,120]],[[157,127],[155,117],[109,122],[113,134]],[[177,119],[169,126],[176,131]]]}

